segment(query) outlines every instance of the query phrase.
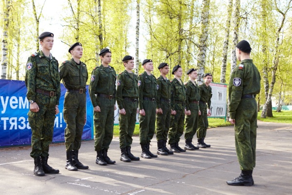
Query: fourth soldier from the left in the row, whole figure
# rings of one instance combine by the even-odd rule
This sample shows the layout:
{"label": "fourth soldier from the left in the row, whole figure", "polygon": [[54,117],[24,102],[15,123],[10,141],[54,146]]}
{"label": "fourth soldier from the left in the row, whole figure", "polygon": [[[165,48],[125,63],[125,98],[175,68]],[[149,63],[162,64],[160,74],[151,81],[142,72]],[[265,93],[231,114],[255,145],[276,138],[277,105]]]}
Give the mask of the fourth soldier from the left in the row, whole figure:
{"label": "fourth soldier from the left in the row, whole figure", "polygon": [[139,157],[131,153],[132,136],[138,113],[138,77],[132,72],[134,58],[125,56],[122,61],[125,71],[120,73],[117,78],[117,103],[120,109],[120,160],[130,162],[131,160],[140,160]]}

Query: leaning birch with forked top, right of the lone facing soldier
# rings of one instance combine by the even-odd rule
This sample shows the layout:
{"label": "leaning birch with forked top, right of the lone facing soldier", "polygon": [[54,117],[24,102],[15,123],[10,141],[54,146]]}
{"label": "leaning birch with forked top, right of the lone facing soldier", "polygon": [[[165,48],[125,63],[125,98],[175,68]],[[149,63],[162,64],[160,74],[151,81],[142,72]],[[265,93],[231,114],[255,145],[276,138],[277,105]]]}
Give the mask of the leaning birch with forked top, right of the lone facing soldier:
{"label": "leaning birch with forked top, right of the lone facing soldier", "polygon": [[266,118],[267,107],[272,102],[272,94],[273,94],[273,90],[274,90],[274,84],[276,81],[276,73],[277,73],[277,68],[279,65],[279,58],[280,58],[279,46],[282,43],[282,42],[280,42],[280,33],[284,27],[287,12],[291,9],[291,1],[292,0],[289,0],[287,3],[286,9],[284,11],[281,11],[277,5],[276,0],[274,0],[275,9],[282,16],[281,17],[282,20],[281,20],[281,24],[280,24],[278,30],[276,31],[276,40],[275,40],[275,47],[274,47],[274,54],[273,54],[273,66],[272,66],[272,81],[271,81],[271,84],[269,87],[268,98],[263,106],[263,110],[261,113],[262,118]]}

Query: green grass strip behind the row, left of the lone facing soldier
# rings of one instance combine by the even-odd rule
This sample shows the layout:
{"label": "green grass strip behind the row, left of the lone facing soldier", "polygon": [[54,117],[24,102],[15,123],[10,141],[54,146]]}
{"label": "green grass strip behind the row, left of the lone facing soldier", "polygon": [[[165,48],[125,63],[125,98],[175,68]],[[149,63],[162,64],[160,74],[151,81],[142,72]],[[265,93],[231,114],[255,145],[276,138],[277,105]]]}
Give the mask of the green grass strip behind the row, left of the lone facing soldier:
{"label": "green grass strip behind the row, left of the lone facing soldier", "polygon": [[[231,124],[226,121],[225,118],[208,118],[209,121],[209,128],[215,128],[215,127],[225,127],[225,126],[231,126]],[[113,127],[113,136],[119,137],[119,125],[114,125]],[[135,130],[134,130],[134,136],[139,136],[139,124],[136,124]]]}

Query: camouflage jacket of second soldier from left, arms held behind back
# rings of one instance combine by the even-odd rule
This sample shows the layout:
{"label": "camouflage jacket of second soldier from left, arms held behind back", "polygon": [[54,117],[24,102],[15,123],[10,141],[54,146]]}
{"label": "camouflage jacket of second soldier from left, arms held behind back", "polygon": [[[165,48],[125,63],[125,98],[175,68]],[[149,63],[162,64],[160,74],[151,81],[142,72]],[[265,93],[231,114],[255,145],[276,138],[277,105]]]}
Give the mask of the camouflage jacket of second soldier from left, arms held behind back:
{"label": "camouflage jacket of second soldier from left, arms held behind back", "polygon": [[67,89],[85,89],[88,80],[86,64],[80,61],[78,65],[74,59],[64,61],[60,66],[60,80]]}

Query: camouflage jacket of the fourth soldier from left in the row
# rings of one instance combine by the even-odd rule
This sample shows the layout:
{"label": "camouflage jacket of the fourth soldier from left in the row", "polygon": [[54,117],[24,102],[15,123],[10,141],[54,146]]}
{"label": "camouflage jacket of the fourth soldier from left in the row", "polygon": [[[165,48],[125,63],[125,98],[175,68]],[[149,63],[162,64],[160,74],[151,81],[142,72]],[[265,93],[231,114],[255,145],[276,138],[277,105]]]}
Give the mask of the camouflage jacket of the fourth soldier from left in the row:
{"label": "camouflage jacket of the fourth soldier from left in the row", "polygon": [[123,97],[138,99],[138,77],[134,73],[130,74],[127,70],[120,73],[117,78],[117,103],[119,109],[123,109]]}

